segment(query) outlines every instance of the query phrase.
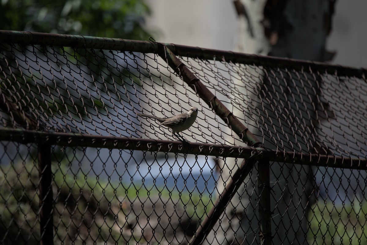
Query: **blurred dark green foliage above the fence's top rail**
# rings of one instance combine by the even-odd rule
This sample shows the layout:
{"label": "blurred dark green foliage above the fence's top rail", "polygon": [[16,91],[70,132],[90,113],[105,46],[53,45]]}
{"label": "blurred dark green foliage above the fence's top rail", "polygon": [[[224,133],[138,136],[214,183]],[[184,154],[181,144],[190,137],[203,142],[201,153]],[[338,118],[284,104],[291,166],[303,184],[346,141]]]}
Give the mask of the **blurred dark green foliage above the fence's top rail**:
{"label": "blurred dark green foliage above the fence's top rail", "polygon": [[1,0],[0,29],[147,40],[142,0]]}

